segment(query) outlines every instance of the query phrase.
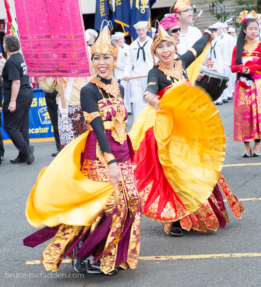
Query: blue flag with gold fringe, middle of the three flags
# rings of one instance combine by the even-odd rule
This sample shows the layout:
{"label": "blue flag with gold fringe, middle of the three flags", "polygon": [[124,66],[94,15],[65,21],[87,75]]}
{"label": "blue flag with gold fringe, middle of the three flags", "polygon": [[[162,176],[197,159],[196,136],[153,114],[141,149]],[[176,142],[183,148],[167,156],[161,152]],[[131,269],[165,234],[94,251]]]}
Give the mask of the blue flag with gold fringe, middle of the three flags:
{"label": "blue flag with gold fringe, middle of the three flags", "polygon": [[129,34],[131,23],[131,2],[130,0],[115,1],[115,22],[122,26],[125,36]]}

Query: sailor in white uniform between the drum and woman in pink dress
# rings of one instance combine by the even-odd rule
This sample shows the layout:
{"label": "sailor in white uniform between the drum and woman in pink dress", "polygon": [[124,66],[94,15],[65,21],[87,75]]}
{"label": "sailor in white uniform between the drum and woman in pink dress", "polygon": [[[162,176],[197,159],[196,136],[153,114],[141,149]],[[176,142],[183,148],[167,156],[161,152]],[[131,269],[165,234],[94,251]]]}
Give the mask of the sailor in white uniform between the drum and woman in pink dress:
{"label": "sailor in white uniform between the drum and woman in pink dress", "polygon": [[[235,47],[235,39],[230,35],[224,33],[223,28],[224,24],[222,22],[217,22],[213,25],[214,28],[217,28],[217,38],[221,39],[224,44],[224,53],[223,53],[223,61],[224,61],[224,74],[229,77],[229,71],[231,67],[232,61],[232,53]],[[229,85],[232,84],[233,79],[231,78],[228,83]],[[222,96],[217,100],[217,103],[223,101],[223,103],[228,102],[228,98],[232,99],[233,93],[231,88],[227,88],[224,90]]]}

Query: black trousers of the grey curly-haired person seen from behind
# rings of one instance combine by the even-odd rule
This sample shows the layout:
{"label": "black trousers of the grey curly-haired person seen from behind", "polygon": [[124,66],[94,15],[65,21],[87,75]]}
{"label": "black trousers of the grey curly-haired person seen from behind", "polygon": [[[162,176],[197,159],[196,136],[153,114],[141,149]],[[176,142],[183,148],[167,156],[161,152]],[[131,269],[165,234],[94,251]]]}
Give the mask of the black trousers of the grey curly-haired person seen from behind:
{"label": "black trousers of the grey curly-haired person seen from behind", "polygon": [[10,113],[8,106],[10,100],[3,102],[4,128],[12,140],[13,144],[19,150],[19,156],[25,156],[29,146],[29,110],[33,98],[21,101],[16,100],[16,108]]}

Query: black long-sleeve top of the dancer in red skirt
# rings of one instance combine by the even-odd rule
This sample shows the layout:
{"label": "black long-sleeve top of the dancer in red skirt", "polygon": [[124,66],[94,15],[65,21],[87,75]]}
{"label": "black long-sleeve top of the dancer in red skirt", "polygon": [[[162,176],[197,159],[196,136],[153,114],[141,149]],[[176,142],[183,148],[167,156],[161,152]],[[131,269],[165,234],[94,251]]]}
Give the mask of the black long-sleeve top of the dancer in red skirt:
{"label": "black long-sleeve top of the dancer in red skirt", "polygon": [[[197,53],[197,57],[203,52],[203,50],[205,49],[208,41],[210,38],[210,34],[209,33],[205,33],[202,38],[200,38],[193,46],[192,48],[195,49],[196,53]],[[182,62],[182,68],[183,68],[183,74],[182,76],[187,79],[187,73],[186,73],[186,68],[193,62],[195,61],[196,57],[194,56],[194,54],[191,51],[187,51],[186,53],[184,53],[183,55],[179,56],[180,60]],[[176,61],[178,61],[178,58],[175,59]],[[167,76],[160,71],[159,66],[154,65],[153,68],[149,71],[148,74],[148,83],[153,83],[150,84],[149,86],[147,86],[146,91],[149,91],[153,94],[157,94],[158,91],[166,88],[167,86],[170,86],[172,83],[174,83],[174,78],[171,77],[171,81],[167,79]],[[154,84],[155,83],[155,84]]]}

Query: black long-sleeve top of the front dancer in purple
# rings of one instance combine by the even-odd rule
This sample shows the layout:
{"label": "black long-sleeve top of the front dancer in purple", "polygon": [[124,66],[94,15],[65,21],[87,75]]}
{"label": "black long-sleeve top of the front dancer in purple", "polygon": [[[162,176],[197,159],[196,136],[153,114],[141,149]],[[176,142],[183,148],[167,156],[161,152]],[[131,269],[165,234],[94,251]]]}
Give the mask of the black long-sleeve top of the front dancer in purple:
{"label": "black long-sleeve top of the front dancer in purple", "polygon": [[[112,83],[112,79],[108,80],[108,79],[103,79],[100,77],[100,80],[106,85]],[[120,88],[120,96],[123,99],[124,98],[124,88],[122,85],[119,85],[119,88]],[[101,89],[101,91],[102,91],[104,98],[108,99],[109,98],[108,94],[103,89]],[[103,99],[103,97],[100,94],[98,87],[95,84],[89,82],[87,85],[85,85],[84,87],[81,88],[80,101],[81,101],[82,111],[87,112],[87,113],[99,112],[97,102],[102,100],[102,99]],[[108,139],[104,133],[104,125],[102,122],[102,118],[96,117],[95,119],[93,119],[90,122],[90,125],[96,134],[98,144],[99,144],[102,152],[103,153],[104,152],[111,153]],[[112,160],[109,163],[112,163],[112,162],[116,162],[116,161]]]}

